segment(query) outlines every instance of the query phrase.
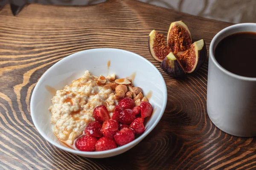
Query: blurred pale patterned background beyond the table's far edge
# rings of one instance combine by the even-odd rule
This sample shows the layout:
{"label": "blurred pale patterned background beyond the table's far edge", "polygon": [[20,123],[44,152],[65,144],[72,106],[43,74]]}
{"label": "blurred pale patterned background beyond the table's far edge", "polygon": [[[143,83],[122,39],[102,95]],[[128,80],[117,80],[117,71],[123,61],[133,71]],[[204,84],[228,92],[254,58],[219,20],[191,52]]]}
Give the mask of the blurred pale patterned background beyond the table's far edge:
{"label": "blurred pale patterned background beyond the table's far edge", "polygon": [[[0,6],[12,3],[23,6],[25,3],[52,5],[94,5],[106,0],[0,0]],[[256,0],[139,0],[164,8],[174,9],[200,17],[230,23],[256,23]]]}

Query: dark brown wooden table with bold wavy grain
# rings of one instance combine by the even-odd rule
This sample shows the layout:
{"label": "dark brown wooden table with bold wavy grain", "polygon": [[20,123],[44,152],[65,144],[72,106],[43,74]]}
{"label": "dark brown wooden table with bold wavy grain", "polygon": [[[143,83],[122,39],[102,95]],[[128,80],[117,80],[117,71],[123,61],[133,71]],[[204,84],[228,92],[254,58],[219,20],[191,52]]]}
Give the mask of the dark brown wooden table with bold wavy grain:
{"label": "dark brown wooden table with bold wavy grain", "polygon": [[[150,31],[166,35],[177,20],[207,48],[231,25],[134,0],[77,7],[31,4],[17,17],[6,5],[0,11],[0,169],[256,169],[256,138],[230,136],[207,115],[208,60],[197,73],[174,79],[149,54]],[[87,159],[44,140],[33,125],[29,101],[55,62],[102,47],[132,51],[156,65],[166,80],[168,104],[157,127],[136,147],[107,159]]]}

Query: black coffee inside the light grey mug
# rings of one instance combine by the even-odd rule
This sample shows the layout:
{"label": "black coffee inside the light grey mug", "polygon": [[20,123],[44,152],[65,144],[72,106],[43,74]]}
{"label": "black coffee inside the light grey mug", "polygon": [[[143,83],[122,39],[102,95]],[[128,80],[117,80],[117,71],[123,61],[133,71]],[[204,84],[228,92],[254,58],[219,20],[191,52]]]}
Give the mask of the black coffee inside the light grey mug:
{"label": "black coffee inside the light grey mug", "polygon": [[225,37],[218,43],[214,56],[227,71],[256,77],[256,33],[240,32]]}

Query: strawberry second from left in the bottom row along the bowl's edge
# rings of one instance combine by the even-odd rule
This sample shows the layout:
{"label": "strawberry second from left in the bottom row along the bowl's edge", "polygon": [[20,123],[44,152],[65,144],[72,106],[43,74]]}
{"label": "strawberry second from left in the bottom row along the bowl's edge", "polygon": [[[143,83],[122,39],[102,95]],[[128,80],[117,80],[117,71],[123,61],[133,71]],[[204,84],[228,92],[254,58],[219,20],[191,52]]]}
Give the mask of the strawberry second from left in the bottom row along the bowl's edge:
{"label": "strawberry second from left in the bottom row along the bowl's edge", "polygon": [[96,151],[110,150],[116,148],[116,142],[113,139],[103,136],[95,144]]}

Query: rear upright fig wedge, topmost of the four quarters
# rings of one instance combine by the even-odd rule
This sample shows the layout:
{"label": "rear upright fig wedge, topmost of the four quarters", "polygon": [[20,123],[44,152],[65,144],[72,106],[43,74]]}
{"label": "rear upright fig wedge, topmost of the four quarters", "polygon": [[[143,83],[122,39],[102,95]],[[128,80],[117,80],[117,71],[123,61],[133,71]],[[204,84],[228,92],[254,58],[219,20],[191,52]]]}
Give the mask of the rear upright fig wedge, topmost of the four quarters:
{"label": "rear upright fig wedge, topmost of the four quarters", "polygon": [[189,28],[182,21],[171,23],[167,35],[167,45],[174,53],[190,48],[192,37]]}

